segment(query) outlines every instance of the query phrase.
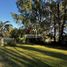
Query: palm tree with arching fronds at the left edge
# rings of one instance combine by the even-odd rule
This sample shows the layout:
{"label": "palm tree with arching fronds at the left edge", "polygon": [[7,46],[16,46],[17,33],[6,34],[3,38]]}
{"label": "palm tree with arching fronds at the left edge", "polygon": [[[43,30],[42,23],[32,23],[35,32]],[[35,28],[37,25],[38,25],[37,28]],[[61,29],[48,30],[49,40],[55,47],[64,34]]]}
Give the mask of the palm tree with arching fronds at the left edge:
{"label": "palm tree with arching fronds at the left edge", "polygon": [[3,37],[5,37],[5,32],[9,31],[9,27],[12,26],[9,24],[9,21],[2,22],[0,21],[0,42],[1,46],[4,45]]}

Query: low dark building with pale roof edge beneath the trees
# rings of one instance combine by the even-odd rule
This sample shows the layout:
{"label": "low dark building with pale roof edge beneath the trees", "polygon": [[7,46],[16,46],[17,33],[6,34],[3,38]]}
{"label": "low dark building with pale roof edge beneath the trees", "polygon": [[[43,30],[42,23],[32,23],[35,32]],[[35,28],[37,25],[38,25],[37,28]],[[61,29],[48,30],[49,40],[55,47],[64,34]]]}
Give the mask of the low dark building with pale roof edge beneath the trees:
{"label": "low dark building with pale roof edge beneath the trees", "polygon": [[34,34],[26,34],[24,36],[26,38],[26,43],[32,43],[32,44],[40,44],[42,43],[42,36],[41,34],[34,35]]}

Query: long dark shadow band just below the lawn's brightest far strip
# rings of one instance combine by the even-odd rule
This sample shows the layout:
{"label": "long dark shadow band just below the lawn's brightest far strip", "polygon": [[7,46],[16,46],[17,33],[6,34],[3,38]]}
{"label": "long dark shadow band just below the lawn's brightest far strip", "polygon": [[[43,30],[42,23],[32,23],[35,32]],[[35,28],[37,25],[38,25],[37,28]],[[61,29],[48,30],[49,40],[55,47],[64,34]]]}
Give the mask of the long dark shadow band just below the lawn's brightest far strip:
{"label": "long dark shadow band just below the lawn's brightest far strip", "polygon": [[[51,51],[45,51],[45,50],[41,50],[41,49],[37,49],[37,48],[34,48],[34,47],[30,47],[30,46],[18,46],[19,48],[22,48],[22,49],[26,49],[26,50],[32,50],[32,51],[37,51],[37,52],[40,52],[40,53],[43,53],[43,54],[46,54],[48,56],[52,56],[52,57],[56,57],[56,58],[60,58],[60,59],[63,59],[63,60],[67,60],[67,55],[64,55],[62,53],[56,53],[56,52],[51,52]],[[17,50],[17,49],[16,49]],[[19,51],[19,50],[17,50]],[[22,51],[19,51],[19,52],[22,52]]]}

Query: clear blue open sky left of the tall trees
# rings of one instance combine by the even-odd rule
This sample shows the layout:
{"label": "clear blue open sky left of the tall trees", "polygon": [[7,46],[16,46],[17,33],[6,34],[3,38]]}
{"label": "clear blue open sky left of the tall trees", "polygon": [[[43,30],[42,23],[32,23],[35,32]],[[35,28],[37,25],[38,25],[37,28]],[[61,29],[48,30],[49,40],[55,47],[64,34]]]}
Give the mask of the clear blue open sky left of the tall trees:
{"label": "clear blue open sky left of the tall trees", "polygon": [[16,0],[0,0],[0,21],[10,21],[14,27],[19,27],[11,16],[12,12],[18,13]]}

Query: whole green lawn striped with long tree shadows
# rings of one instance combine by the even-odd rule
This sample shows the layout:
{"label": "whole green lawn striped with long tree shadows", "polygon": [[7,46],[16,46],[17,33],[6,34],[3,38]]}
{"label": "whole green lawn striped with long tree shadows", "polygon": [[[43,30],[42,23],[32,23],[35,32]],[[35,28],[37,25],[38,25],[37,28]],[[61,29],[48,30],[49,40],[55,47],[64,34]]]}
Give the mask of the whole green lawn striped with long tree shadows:
{"label": "whole green lawn striped with long tree shadows", "polygon": [[67,50],[39,45],[0,47],[4,67],[67,67]]}

